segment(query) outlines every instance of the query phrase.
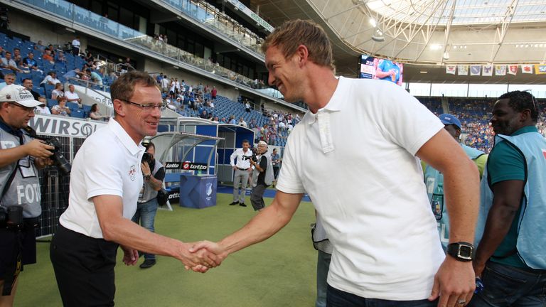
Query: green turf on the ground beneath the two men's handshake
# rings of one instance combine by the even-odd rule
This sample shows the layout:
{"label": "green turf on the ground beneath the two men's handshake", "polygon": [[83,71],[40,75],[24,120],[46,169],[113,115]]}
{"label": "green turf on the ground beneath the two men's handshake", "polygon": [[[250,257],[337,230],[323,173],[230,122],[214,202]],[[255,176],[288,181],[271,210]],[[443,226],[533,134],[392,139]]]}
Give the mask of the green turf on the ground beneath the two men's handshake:
{"label": "green turf on the ground beneath the two men's handshake", "polygon": [[[238,230],[256,213],[247,197],[247,208],[229,206],[232,196],[218,194],[218,203],[204,209],[173,205],[159,210],[156,232],[185,242],[217,241]],[[269,204],[272,199],[265,198]],[[314,222],[311,203],[301,203],[289,225],[277,235],[231,254],[221,266],[206,274],[186,271],[169,257],[158,257],[150,269],[125,266],[118,249],[116,306],[314,306],[316,251],[309,224]],[[38,263],[21,273],[15,306],[62,306],[49,243],[38,243]]]}

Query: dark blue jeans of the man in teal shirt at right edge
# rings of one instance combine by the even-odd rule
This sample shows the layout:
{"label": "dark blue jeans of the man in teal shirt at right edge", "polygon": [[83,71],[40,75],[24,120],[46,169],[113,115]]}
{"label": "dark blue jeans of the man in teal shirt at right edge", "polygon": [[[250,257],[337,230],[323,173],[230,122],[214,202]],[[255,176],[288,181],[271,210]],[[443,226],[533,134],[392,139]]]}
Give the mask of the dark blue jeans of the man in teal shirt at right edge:
{"label": "dark blue jeans of the man in teal shirt at right edge", "polygon": [[483,291],[471,307],[546,306],[546,270],[526,271],[488,262],[482,274]]}

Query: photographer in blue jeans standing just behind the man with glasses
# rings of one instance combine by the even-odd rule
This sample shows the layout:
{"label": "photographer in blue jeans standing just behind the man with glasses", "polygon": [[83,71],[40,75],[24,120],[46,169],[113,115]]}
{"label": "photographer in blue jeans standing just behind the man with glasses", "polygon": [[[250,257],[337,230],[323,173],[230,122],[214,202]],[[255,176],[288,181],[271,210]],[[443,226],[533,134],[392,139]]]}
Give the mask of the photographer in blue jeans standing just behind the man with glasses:
{"label": "photographer in blue jeans standing just behind the man with glasses", "polygon": [[[161,190],[163,179],[165,178],[165,168],[154,157],[156,155],[156,146],[149,142],[146,146],[146,153],[142,157],[140,169],[144,176],[144,184],[140,190],[139,201],[137,203],[137,212],[134,213],[133,222],[136,222],[147,230],[155,232],[154,220],[157,212],[157,191]],[[144,262],[140,264],[141,269],[147,269],[156,264],[156,255],[144,253]]]}

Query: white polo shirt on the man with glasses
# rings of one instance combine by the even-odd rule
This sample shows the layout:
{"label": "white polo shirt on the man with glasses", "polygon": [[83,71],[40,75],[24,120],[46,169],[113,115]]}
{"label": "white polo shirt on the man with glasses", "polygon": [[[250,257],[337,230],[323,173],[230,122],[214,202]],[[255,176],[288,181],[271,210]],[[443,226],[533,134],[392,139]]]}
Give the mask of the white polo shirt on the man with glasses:
{"label": "white polo shirt on the man with glasses", "polygon": [[95,204],[98,195],[118,195],[123,200],[123,216],[133,217],[143,178],[140,161],[144,146],[110,119],[107,126],[89,136],[77,151],[70,173],[68,209],[60,225],[94,238],[102,238]]}

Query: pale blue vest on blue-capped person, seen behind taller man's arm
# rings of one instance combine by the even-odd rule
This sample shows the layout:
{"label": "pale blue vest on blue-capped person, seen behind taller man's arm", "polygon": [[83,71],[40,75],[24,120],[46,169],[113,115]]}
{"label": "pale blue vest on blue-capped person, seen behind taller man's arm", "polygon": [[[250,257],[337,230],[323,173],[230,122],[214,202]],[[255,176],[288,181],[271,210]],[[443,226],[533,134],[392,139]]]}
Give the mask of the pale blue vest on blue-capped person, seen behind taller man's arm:
{"label": "pale blue vest on blue-capped person, seen behind taller man's arm", "polygon": [[[484,154],[482,151],[464,144],[461,144],[461,147],[472,160],[476,160]],[[427,165],[424,171],[424,183],[427,185],[427,195],[429,196],[432,213],[436,217],[441,247],[446,250],[447,244],[449,244],[449,215],[444,205],[444,174]]]}

